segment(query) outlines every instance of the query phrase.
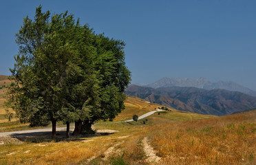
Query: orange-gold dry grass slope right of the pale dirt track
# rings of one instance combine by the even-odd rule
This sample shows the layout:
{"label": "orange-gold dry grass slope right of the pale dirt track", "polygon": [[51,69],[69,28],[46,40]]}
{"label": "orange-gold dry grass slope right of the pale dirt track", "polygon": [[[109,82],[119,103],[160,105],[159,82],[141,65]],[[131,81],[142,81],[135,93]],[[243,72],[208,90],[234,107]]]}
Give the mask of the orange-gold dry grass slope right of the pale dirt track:
{"label": "orange-gold dry grass slope right of the pale dirt track", "polygon": [[151,127],[161,164],[256,164],[256,111]]}

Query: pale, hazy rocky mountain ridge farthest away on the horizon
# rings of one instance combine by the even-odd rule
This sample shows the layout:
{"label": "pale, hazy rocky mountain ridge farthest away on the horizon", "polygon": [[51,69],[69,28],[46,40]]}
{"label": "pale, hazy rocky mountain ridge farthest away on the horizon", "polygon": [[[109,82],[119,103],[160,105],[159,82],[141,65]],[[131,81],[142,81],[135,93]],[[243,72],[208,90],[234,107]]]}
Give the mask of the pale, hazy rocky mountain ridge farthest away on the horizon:
{"label": "pale, hazy rocky mountain ridge farthest away on the horizon", "polygon": [[162,78],[155,83],[145,85],[144,87],[152,87],[158,89],[160,87],[197,87],[200,89],[226,89],[229,91],[239,91],[244,94],[256,97],[256,91],[243,87],[232,81],[219,81],[211,83],[206,78]]}

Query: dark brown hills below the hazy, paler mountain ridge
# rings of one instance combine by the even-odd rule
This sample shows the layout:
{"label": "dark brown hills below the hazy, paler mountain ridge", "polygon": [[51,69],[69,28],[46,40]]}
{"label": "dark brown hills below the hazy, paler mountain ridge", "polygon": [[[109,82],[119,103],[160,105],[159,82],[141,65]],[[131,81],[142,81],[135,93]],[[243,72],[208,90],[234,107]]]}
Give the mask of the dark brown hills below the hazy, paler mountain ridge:
{"label": "dark brown hills below the hazy, paler mountain ridge", "polygon": [[126,89],[126,94],[174,109],[208,115],[226,115],[256,107],[255,97],[224,89],[206,90],[195,87],[153,89],[130,85]]}

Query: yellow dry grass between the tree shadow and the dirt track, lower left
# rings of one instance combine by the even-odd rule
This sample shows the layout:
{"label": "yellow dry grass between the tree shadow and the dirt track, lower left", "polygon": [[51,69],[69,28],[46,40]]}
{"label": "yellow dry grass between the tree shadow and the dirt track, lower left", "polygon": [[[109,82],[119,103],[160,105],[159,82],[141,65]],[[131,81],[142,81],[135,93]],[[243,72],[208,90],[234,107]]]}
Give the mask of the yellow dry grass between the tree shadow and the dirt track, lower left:
{"label": "yellow dry grass between the tree shadow and the dirt track, lower left", "polygon": [[89,137],[74,141],[3,145],[0,164],[87,164],[87,159],[100,157],[112,144],[114,140]]}

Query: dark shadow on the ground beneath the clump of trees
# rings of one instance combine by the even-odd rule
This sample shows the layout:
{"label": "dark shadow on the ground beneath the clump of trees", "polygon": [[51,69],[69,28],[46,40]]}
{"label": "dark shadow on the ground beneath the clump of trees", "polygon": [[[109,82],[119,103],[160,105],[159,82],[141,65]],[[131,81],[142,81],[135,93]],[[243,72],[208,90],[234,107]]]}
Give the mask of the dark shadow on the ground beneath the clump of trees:
{"label": "dark shadow on the ground beneath the clump of trees", "polygon": [[104,133],[95,133],[95,134],[86,134],[86,135],[78,135],[73,136],[70,133],[70,138],[66,138],[66,131],[57,131],[56,139],[52,140],[52,132],[33,132],[33,133],[13,133],[11,137],[17,138],[22,142],[33,142],[33,143],[41,143],[41,142],[75,142],[75,141],[84,141],[86,137],[96,137],[96,136],[107,136],[113,134],[113,132],[104,132]]}

